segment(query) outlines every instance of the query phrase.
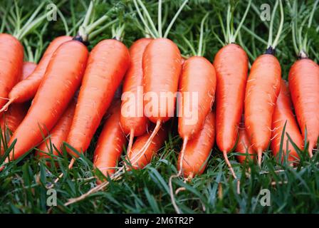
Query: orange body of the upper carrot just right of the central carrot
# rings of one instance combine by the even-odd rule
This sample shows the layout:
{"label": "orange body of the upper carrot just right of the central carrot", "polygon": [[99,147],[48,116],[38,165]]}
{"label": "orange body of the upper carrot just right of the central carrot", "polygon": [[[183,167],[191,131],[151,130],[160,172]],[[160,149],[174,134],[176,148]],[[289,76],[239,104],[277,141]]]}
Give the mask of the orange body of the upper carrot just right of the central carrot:
{"label": "orange body of the upper carrot just right of the central carrot", "polygon": [[[179,78],[179,103],[178,132],[184,139],[192,139],[204,125],[206,115],[211,111],[216,90],[216,73],[214,66],[201,56],[193,56],[184,62],[182,75]],[[189,97],[185,95],[189,93]],[[192,96],[197,94],[198,103],[193,103]],[[188,116],[184,110],[197,113]]]}

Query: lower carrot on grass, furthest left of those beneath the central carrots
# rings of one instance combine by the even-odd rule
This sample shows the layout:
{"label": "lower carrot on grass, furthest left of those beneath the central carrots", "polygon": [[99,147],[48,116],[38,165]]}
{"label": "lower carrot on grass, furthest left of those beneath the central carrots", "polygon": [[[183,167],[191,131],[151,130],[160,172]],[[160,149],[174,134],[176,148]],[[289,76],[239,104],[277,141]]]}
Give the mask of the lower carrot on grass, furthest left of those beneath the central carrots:
{"label": "lower carrot on grass, furthest left of those beneath the central carrots", "polygon": [[105,122],[94,152],[93,165],[106,177],[115,172],[123,146],[126,145],[125,134],[120,126],[120,112],[120,103],[117,103]]}

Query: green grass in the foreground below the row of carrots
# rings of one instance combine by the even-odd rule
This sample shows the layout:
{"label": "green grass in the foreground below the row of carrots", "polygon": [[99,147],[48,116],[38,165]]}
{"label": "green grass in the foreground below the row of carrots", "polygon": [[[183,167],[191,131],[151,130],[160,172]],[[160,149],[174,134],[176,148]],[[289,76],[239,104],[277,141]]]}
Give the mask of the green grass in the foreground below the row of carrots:
{"label": "green grass in the foreground below the row of carrots", "polygon": [[[179,138],[167,142],[144,170],[125,172],[122,179],[110,182],[104,191],[64,207],[68,199],[78,197],[95,186],[90,158],[78,160],[66,171],[68,160],[60,158],[63,177],[53,188],[57,192],[57,207],[52,213],[169,213],[174,212],[167,185],[169,176],[176,173]],[[234,156],[231,156],[234,158]],[[192,182],[173,181],[174,190],[185,187],[176,197],[184,213],[318,213],[319,177],[318,155],[312,160],[306,153],[298,167],[278,164],[266,152],[262,167],[248,163],[239,165],[231,159],[241,179],[241,194],[236,193],[236,180],[231,177],[221,153],[214,149],[203,175]],[[250,172],[248,171],[250,169]],[[276,172],[276,170],[283,170]],[[0,173],[0,212],[46,213],[47,186],[61,173],[46,167],[33,155]],[[271,192],[271,206],[260,203],[262,189]]]}

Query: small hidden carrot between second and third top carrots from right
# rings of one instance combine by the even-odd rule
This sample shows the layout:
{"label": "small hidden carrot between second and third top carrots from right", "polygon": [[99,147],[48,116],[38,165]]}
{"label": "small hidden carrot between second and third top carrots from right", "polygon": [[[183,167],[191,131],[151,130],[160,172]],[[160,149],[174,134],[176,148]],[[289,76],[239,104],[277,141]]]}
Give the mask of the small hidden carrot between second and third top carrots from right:
{"label": "small hidden carrot between second and third top carrots from right", "polygon": [[239,137],[235,151],[242,154],[248,153],[249,155],[251,155],[237,155],[237,160],[241,163],[244,163],[249,159],[254,160],[253,155],[255,154],[255,151],[253,151],[253,148],[251,147],[251,142],[249,141],[244,123],[240,123],[239,125]]}

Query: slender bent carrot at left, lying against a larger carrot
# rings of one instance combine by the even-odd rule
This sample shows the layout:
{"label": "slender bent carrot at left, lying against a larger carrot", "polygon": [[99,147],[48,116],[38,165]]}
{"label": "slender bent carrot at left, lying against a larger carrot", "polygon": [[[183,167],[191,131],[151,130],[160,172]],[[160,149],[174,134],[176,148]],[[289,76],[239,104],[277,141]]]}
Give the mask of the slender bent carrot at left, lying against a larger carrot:
{"label": "slender bent carrot at left, lying against a larger carrot", "polygon": [[31,76],[28,76],[26,80],[23,80],[16,84],[16,86],[14,86],[14,88],[12,88],[12,90],[10,91],[9,98],[14,99],[15,103],[23,103],[34,98],[34,95],[36,95],[36,91],[40,86],[43,76],[46,73],[46,68],[48,67],[48,63],[50,62],[53,53],[59,46],[61,46],[62,43],[70,41],[71,39],[72,37],[70,36],[59,36],[58,38],[55,38],[50,43],[48,48],[46,48],[45,53],[43,53],[38,66],[33,71]]}

